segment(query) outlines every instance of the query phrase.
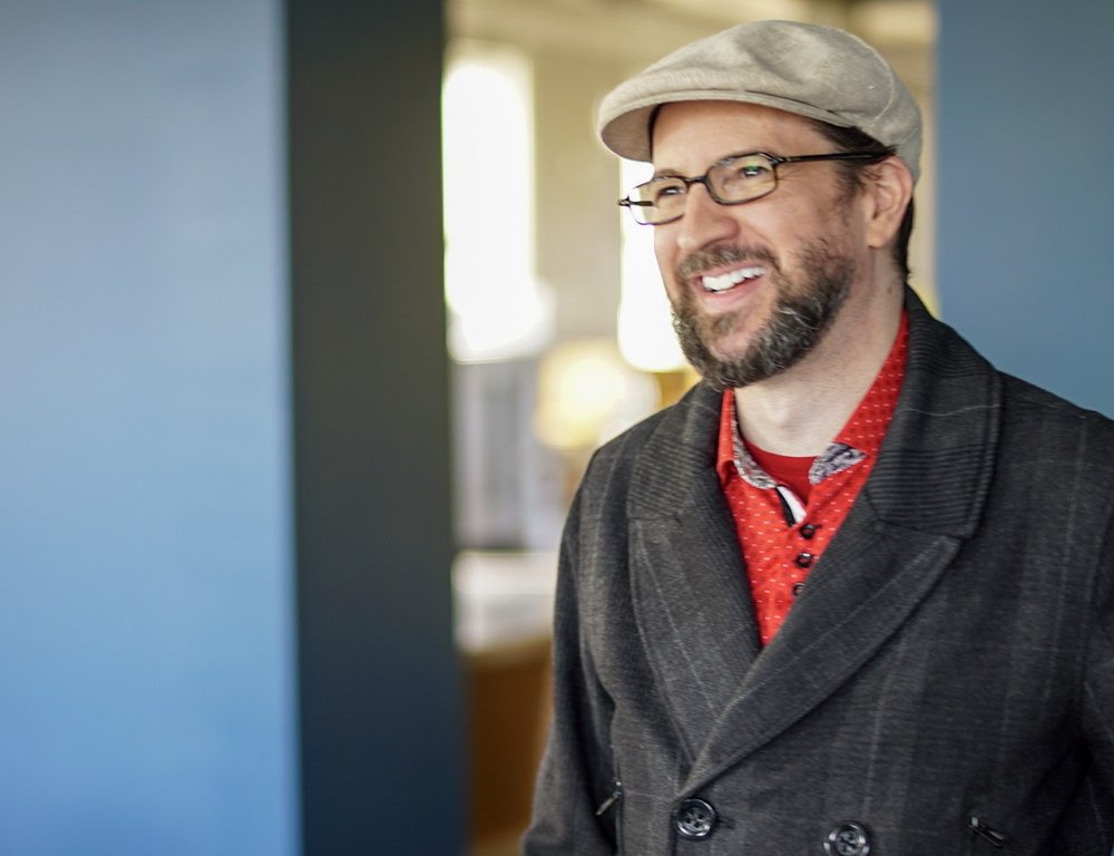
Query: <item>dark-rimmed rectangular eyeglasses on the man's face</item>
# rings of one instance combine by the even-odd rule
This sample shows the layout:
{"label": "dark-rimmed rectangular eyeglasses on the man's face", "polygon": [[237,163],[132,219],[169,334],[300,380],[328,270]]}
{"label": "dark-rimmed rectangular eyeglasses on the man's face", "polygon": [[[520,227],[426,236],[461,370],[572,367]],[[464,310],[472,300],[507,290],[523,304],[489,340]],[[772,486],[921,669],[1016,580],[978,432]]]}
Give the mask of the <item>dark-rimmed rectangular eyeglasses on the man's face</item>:
{"label": "dark-rimmed rectangular eyeglasses on the man's face", "polygon": [[716,160],[704,175],[690,178],[684,175],[662,175],[619,200],[629,208],[634,218],[645,226],[661,226],[681,220],[685,213],[685,196],[694,184],[703,184],[709,195],[721,205],[742,205],[769,196],[778,188],[778,167],[782,164],[802,164],[813,160],[882,160],[891,149],[876,152],[837,152],[829,155],[797,155],[778,157],[764,152],[749,152]]}

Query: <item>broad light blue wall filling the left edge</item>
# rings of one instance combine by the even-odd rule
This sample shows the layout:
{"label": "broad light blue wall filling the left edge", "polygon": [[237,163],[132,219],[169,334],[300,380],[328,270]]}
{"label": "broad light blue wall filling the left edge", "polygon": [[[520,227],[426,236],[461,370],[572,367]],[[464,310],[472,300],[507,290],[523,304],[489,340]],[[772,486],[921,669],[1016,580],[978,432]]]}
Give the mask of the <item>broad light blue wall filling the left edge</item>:
{"label": "broad light blue wall filling the left edge", "polygon": [[281,10],[0,6],[0,853],[297,848]]}

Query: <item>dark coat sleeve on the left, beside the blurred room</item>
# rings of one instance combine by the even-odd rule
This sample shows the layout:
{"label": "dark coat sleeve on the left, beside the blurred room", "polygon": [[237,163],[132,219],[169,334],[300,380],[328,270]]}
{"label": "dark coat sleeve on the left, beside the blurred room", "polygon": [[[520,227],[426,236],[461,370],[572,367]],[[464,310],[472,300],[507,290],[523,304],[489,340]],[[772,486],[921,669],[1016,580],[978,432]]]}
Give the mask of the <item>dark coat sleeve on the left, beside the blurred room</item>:
{"label": "dark coat sleeve on the left, beside the blurred room", "polygon": [[595,678],[583,630],[577,494],[561,541],[554,609],[554,716],[534,795],[524,856],[609,856],[616,853],[620,806],[597,815],[617,790],[607,737],[612,703]]}

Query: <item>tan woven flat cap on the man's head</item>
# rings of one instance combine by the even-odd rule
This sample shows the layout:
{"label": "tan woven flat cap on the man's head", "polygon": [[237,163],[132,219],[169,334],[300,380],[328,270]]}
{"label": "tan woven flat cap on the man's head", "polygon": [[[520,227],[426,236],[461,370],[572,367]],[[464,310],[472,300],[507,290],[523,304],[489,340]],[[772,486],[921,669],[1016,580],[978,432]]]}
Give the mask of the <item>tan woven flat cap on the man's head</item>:
{"label": "tan woven flat cap on the man's head", "polygon": [[920,110],[890,64],[849,32],[800,21],[742,23],[675,50],[604,98],[599,136],[620,157],[649,160],[654,110],[706,100],[859,128],[920,173]]}

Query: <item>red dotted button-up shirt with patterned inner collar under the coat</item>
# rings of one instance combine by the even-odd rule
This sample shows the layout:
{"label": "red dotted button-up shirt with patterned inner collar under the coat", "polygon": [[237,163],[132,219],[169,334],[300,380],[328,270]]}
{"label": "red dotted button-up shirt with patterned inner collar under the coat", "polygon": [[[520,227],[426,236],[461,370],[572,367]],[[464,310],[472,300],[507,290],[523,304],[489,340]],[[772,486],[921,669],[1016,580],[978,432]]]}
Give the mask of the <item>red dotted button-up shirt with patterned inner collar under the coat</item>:
{"label": "red dotted button-up shirt with patterned inner collar under the coat", "polygon": [[[773,639],[809,571],[847,517],[878,458],[893,418],[908,353],[908,319],[901,315],[893,347],[847,425],[817,458],[785,458],[743,441],[732,390],[723,395],[716,469],[735,521],[754,600],[759,635]],[[781,473],[779,481],[760,466]],[[807,468],[808,495],[791,489]]]}

